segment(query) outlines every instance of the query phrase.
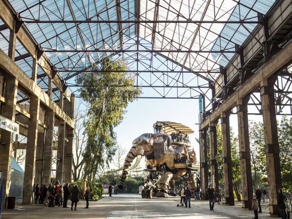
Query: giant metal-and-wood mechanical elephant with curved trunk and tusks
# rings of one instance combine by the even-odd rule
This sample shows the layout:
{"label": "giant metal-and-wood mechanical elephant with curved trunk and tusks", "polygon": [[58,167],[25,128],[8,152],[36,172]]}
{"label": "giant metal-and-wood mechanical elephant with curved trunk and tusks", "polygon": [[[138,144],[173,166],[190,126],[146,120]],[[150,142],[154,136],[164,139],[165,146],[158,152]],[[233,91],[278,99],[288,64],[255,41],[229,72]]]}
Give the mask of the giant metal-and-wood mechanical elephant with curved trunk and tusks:
{"label": "giant metal-and-wood mechanical elephant with curved trunk and tusks", "polygon": [[[186,148],[185,148],[186,150]],[[186,150],[187,155],[187,150]],[[124,164],[121,168],[113,171],[122,170],[119,182],[119,188],[122,188],[123,182],[126,180],[128,170],[136,168],[141,158],[146,157],[147,166],[156,167],[160,170],[160,182],[156,197],[167,197],[169,195],[175,196],[174,181],[184,176],[185,181],[188,183],[189,188],[194,193],[195,190],[195,176],[192,174],[187,165],[178,168],[175,165],[177,156],[177,149],[168,135],[158,134],[142,134],[133,141],[133,146],[127,154]],[[133,160],[136,158],[135,164],[132,165]]]}

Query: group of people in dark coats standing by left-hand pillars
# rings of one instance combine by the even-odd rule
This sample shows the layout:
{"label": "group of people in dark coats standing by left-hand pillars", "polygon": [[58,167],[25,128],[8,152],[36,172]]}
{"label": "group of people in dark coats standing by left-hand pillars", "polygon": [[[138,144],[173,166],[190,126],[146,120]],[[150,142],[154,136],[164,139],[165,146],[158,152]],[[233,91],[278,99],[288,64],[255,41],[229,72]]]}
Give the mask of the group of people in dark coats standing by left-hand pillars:
{"label": "group of people in dark coats standing by left-hand pillars", "polygon": [[[74,185],[71,192],[69,189],[69,183],[66,183],[64,186],[60,184],[59,181],[56,181],[56,183],[53,185],[52,183],[49,184],[47,187],[46,185],[41,185],[40,187],[38,184],[35,186],[35,204],[49,204],[49,207],[63,207],[63,208],[69,208],[67,207],[68,200],[70,198],[71,200],[71,210],[76,211],[77,203],[79,202],[79,195],[80,195],[80,189],[78,188],[78,185]],[[70,196],[71,195],[71,196]],[[90,197],[90,188],[87,187],[85,191],[85,200],[86,200],[86,208],[89,207],[89,197]]]}

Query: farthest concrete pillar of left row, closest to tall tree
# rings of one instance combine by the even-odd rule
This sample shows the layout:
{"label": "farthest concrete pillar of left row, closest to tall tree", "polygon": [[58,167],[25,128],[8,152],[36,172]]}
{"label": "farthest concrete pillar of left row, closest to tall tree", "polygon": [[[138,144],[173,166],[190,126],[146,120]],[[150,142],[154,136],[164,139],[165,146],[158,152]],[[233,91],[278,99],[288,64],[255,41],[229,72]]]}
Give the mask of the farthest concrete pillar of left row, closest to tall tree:
{"label": "farthest concrete pillar of left row, closest to tall tree", "polygon": [[72,180],[72,165],[73,165],[73,137],[74,137],[74,129],[67,127],[67,139],[65,146],[65,168],[64,168],[64,180],[63,183],[71,183]]}

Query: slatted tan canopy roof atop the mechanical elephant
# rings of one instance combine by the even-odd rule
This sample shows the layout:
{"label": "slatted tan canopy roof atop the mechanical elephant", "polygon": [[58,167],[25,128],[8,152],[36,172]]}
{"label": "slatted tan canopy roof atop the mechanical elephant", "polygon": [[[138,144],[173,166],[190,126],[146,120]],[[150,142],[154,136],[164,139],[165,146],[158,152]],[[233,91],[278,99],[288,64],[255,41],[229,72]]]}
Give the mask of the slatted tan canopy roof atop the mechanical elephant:
{"label": "slatted tan canopy roof atop the mechanical elephant", "polygon": [[157,121],[153,124],[153,127],[156,125],[161,126],[161,132],[165,134],[172,134],[173,132],[181,132],[183,134],[192,134],[194,131],[181,123],[171,122],[171,121]]}

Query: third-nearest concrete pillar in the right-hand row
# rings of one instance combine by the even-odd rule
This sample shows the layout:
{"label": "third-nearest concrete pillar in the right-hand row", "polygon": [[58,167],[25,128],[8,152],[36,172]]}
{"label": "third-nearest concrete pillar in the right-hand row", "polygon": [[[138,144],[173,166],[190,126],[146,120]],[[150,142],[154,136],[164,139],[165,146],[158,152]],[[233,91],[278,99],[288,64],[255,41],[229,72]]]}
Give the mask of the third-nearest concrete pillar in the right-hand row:
{"label": "third-nearest concrete pillar in the right-hand row", "polygon": [[226,112],[222,113],[220,118],[223,150],[223,181],[225,203],[226,205],[234,205],[229,116],[230,112]]}

